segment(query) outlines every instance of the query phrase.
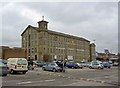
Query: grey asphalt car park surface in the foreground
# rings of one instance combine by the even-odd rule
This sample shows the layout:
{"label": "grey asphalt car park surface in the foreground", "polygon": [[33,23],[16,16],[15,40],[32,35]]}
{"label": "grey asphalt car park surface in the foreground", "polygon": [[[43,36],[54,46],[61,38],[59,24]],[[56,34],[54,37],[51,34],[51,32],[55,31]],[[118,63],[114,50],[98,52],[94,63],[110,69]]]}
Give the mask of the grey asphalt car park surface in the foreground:
{"label": "grey asphalt car park surface in the foreground", "polygon": [[118,86],[118,68],[66,69],[66,72],[29,70],[26,74],[1,77],[2,86]]}

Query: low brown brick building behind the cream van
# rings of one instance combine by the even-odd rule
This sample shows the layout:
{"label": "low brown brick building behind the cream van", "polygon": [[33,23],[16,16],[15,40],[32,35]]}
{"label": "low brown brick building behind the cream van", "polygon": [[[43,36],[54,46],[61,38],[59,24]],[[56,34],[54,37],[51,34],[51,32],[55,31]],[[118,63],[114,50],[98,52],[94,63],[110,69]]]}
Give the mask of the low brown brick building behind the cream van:
{"label": "low brown brick building behind the cream van", "polygon": [[10,48],[8,46],[0,46],[0,59],[7,60],[8,58],[27,58],[25,49],[18,47]]}

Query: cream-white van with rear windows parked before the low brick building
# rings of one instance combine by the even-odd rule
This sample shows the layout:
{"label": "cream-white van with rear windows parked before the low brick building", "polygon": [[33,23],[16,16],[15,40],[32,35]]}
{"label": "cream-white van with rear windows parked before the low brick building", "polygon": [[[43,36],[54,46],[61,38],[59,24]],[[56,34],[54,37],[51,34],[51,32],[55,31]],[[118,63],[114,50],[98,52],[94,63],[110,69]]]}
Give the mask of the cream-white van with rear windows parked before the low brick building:
{"label": "cream-white van with rear windows parked before the low brick building", "polygon": [[28,62],[25,58],[9,58],[7,60],[10,73],[22,72],[25,74],[28,71]]}

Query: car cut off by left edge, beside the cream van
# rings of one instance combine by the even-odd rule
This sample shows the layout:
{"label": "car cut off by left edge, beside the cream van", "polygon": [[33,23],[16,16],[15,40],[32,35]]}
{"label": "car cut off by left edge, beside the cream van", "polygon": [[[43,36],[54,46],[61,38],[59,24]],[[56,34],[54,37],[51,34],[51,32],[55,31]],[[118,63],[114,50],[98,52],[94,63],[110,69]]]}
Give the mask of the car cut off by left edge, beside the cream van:
{"label": "car cut off by left edge, beside the cream van", "polygon": [[0,76],[7,76],[8,73],[9,73],[8,66],[4,64],[2,60],[0,60]]}

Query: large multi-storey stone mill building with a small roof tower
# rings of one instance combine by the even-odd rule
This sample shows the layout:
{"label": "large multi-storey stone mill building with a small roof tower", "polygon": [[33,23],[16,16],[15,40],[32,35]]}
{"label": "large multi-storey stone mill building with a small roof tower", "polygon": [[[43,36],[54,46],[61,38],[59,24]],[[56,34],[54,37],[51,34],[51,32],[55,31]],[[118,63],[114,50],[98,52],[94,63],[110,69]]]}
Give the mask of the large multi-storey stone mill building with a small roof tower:
{"label": "large multi-storey stone mill building with a small roof tower", "polygon": [[95,58],[95,45],[89,40],[48,30],[48,22],[44,19],[38,22],[38,27],[28,25],[21,36],[22,49],[27,50],[28,60],[81,61]]}

